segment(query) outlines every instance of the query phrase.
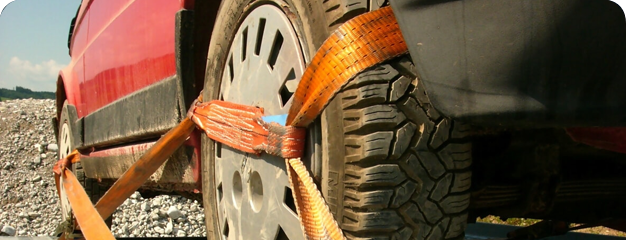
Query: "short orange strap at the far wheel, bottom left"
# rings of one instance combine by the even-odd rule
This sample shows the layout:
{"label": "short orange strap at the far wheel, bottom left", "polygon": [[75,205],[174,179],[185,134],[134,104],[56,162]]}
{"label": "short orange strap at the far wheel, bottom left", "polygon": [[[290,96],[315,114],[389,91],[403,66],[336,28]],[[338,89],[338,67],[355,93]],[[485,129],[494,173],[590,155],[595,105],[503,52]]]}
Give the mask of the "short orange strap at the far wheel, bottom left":
{"label": "short orange strap at the far wheel, bottom left", "polygon": [[[80,161],[80,154],[74,150],[69,156],[61,159],[54,166],[54,180],[57,191],[61,194],[61,186],[72,207],[72,212],[79,226],[86,227],[89,231],[84,231],[83,236],[89,240],[115,240],[113,234],[107,227],[96,208],[91,204],[89,196],[76,176],[68,169],[71,163]],[[61,185],[62,184],[62,185]],[[65,233],[64,235],[65,236]],[[62,237],[64,238],[64,237]]]}

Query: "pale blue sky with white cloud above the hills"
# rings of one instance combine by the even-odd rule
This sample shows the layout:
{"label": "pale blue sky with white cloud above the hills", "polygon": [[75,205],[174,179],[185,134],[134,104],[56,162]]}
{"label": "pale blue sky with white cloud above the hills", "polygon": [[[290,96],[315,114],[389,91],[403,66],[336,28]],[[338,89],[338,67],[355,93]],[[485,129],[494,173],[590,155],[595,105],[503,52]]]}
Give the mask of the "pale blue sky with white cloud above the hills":
{"label": "pale blue sky with white cloud above the hills", "polygon": [[[15,0],[0,13],[0,88],[56,90],[70,62],[67,36],[80,0]],[[0,6],[2,7],[2,6]]]}

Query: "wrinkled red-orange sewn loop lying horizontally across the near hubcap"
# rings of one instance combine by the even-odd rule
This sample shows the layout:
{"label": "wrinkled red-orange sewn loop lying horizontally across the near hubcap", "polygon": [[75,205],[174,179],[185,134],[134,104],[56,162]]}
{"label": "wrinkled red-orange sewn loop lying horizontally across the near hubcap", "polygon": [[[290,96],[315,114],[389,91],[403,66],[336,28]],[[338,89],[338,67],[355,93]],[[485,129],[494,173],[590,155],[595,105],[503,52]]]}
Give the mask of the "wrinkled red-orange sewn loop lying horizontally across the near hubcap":
{"label": "wrinkled red-orange sewn loop lying horizontally across the near hubcap", "polygon": [[224,101],[196,101],[189,118],[207,136],[247,153],[267,152],[283,158],[301,157],[306,129],[266,123],[263,109]]}

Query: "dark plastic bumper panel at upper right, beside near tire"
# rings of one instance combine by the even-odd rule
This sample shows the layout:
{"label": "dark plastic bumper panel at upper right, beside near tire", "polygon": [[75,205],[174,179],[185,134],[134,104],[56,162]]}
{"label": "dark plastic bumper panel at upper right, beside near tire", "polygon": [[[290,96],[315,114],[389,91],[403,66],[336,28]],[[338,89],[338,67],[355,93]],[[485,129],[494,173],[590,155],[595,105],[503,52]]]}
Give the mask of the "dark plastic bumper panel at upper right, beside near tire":
{"label": "dark plastic bumper panel at upper right, beside near tire", "polygon": [[626,126],[626,17],[616,2],[390,3],[445,116],[516,128]]}

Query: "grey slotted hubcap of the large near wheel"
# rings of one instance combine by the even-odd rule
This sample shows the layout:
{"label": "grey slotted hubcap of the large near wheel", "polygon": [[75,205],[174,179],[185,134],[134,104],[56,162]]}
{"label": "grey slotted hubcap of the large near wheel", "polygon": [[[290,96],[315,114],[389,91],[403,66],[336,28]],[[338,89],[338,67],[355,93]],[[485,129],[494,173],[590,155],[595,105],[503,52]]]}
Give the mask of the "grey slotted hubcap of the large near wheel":
{"label": "grey slotted hubcap of the large near wheel", "polygon": [[[227,55],[220,99],[287,114],[304,72],[304,56],[289,19],[273,5],[253,9]],[[223,239],[304,239],[285,161],[216,144],[215,178]]]}

